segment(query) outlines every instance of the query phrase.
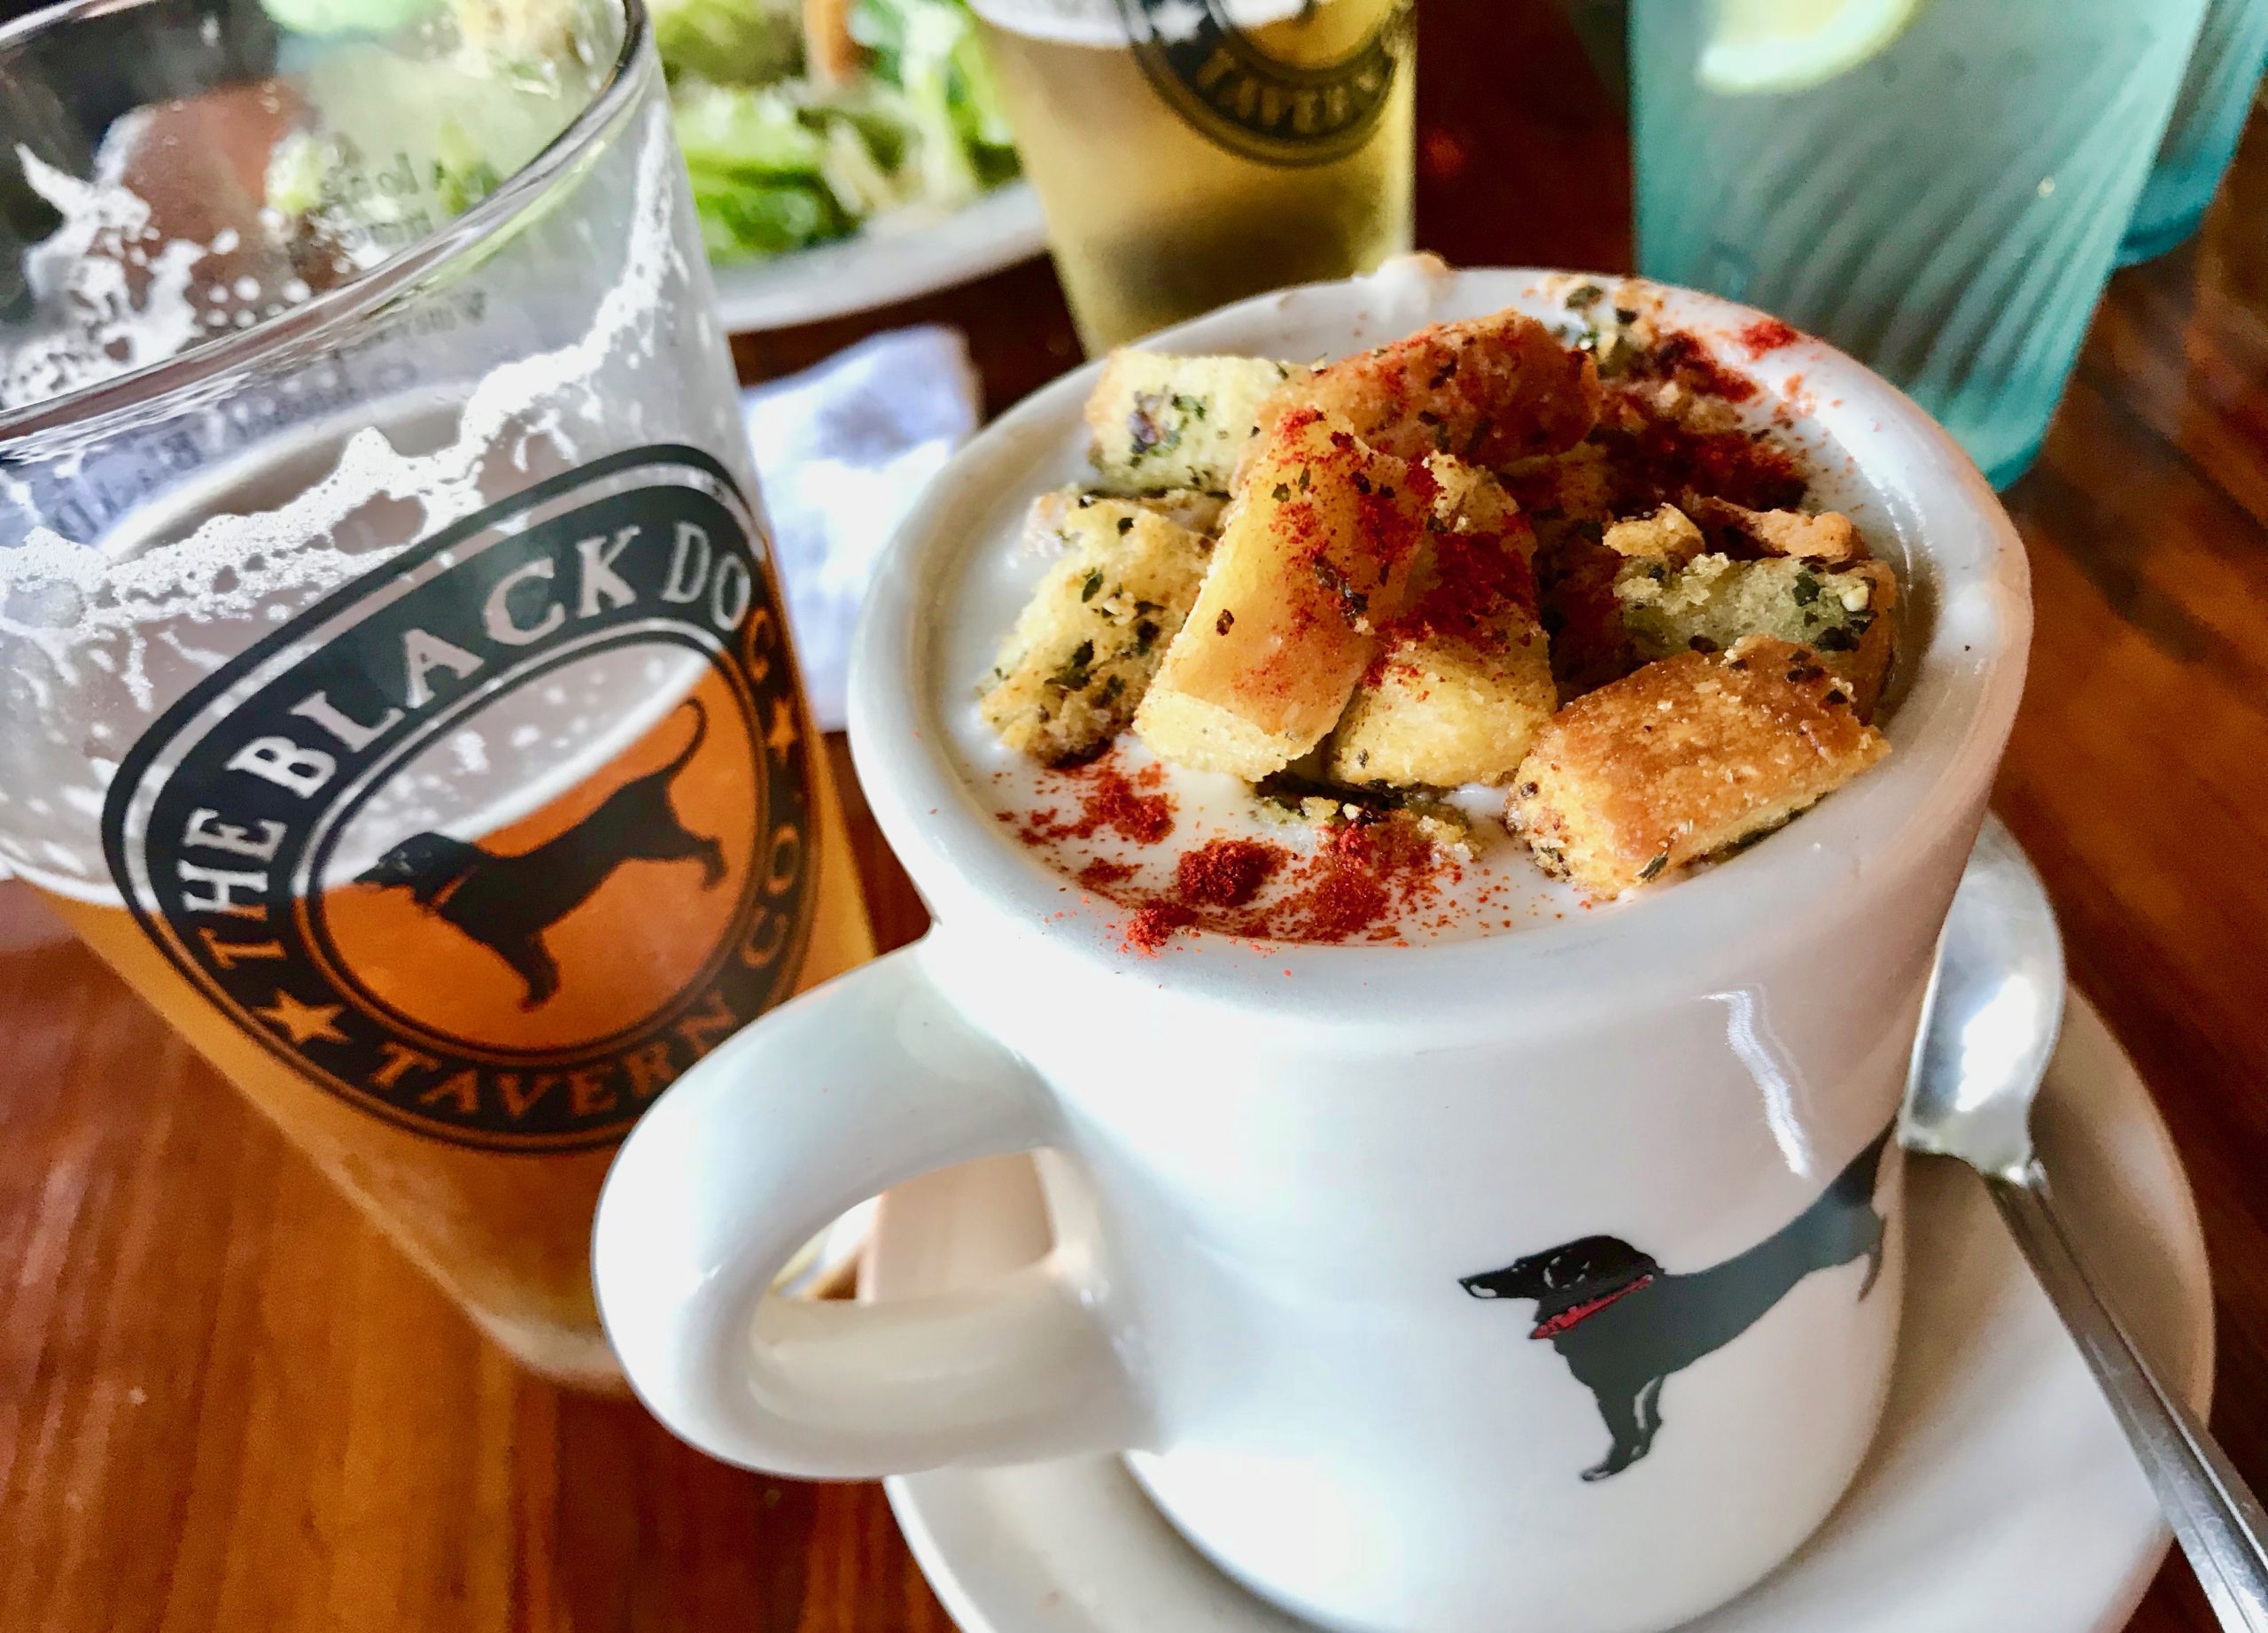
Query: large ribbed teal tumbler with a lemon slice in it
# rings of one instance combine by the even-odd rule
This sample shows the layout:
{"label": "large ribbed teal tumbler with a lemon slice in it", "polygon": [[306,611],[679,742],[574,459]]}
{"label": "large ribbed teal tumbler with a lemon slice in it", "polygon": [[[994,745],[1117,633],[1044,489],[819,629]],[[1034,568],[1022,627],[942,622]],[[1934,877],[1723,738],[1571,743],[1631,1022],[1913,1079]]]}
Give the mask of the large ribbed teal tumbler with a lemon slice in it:
{"label": "large ribbed teal tumbler with a lemon slice in it", "polygon": [[2039,454],[2202,14],[1935,0],[1839,75],[1728,93],[1699,73],[1719,7],[1633,5],[1640,268],[1833,340],[2005,488]]}

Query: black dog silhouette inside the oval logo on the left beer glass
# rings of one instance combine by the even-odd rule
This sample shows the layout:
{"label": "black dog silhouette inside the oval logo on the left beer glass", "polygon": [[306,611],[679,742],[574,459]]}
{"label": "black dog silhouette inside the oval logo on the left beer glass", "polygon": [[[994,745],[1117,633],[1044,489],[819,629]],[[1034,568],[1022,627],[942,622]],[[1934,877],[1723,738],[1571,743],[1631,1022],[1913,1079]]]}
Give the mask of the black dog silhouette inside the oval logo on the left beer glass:
{"label": "black dog silhouette inside the oval logo on the left beer glass", "polygon": [[708,710],[687,699],[694,737],[665,767],[624,782],[567,832],[522,855],[497,855],[440,832],[411,835],[356,885],[406,889],[420,907],[490,948],[526,982],[522,1009],[560,989],[544,930],[572,914],[624,862],[701,862],[701,889],[723,880],[723,848],[678,821],[669,803],[676,780],[708,737]]}

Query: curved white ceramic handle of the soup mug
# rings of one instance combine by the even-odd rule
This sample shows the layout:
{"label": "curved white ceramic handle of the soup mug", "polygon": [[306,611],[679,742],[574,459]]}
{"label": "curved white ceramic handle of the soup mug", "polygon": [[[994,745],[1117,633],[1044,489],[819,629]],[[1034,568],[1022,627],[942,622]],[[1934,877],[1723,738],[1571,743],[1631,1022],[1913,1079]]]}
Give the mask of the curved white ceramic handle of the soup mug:
{"label": "curved white ceramic handle of the soup mug", "polygon": [[937,932],[726,1041],[631,1129],[592,1284],[631,1388],[744,1467],[873,1479],[1136,1445],[1100,1288],[1057,1252],[989,1286],[844,1304],[771,1293],[844,1209],[1057,1134],[1052,1098],[930,980]]}

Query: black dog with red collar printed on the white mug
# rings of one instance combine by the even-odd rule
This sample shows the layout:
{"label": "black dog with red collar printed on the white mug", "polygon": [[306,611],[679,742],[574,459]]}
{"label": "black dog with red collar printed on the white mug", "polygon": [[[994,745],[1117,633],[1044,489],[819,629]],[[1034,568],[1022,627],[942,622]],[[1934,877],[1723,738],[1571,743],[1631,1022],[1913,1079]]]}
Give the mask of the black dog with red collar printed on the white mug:
{"label": "black dog with red collar printed on the white mug", "polygon": [[1708,1270],[1662,1270],[1619,1236],[1583,1236],[1501,1270],[1458,1281],[1472,1297],[1535,1300],[1535,1331],[1599,1399],[1615,1438],[1583,1479],[1606,1479],[1653,1449],[1662,1427],[1662,1379],[1749,1331],[1812,1270],[1867,1261],[1857,1295],[1882,1270],[1882,1216],[1873,1182],[1882,1129],[1817,1202],[1749,1252]]}

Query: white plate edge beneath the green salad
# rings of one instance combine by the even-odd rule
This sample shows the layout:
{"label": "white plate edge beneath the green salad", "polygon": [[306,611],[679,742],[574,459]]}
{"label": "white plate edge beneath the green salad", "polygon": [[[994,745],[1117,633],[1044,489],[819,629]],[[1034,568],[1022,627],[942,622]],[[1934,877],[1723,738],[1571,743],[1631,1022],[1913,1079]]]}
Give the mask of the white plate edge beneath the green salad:
{"label": "white plate edge beneath the green salad", "polygon": [[1048,247],[1030,181],[1009,181],[937,220],[869,222],[855,238],[717,268],[717,311],[733,333],[792,329],[953,288]]}

